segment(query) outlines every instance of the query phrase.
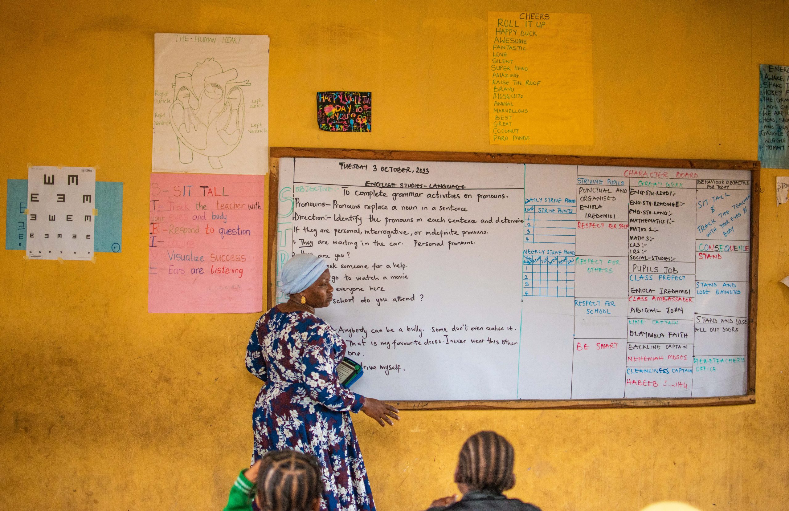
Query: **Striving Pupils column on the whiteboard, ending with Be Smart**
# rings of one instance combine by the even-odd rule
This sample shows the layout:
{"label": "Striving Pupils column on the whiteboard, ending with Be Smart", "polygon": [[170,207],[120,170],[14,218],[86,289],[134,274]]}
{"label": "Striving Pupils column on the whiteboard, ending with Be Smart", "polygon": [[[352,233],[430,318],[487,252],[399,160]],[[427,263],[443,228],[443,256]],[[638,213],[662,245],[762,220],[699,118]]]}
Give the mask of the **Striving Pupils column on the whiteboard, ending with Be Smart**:
{"label": "Striving Pupils column on the whiteboard, ending with Be Smart", "polygon": [[579,166],[576,181],[572,397],[624,397],[629,180]]}

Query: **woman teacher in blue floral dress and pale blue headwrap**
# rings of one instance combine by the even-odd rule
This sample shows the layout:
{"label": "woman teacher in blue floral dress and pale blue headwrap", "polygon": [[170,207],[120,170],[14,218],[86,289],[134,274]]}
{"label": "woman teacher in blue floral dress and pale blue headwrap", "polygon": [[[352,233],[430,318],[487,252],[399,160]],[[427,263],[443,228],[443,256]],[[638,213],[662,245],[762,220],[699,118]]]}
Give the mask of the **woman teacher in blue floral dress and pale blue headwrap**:
{"label": "woman teacher in blue floral dress and pale blue headwrap", "polygon": [[266,382],[252,412],[252,462],[277,449],[312,454],[323,472],[320,509],[374,511],[349,412],[361,410],[384,426],[400,419],[398,409],[354,394],[338,379],[346,343],[315,315],[316,308],[331,304],[334,291],[326,262],[294,255],[280,278],[290,299],[258,319],[247,345],[247,369]]}

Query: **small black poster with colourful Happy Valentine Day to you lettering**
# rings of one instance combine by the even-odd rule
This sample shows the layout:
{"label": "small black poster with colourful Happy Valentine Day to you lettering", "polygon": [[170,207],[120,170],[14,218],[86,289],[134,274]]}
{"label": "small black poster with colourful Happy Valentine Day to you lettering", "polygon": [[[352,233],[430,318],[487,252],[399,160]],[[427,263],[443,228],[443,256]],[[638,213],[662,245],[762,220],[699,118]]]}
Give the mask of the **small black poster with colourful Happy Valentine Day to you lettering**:
{"label": "small black poster with colourful Happy Valentine Day to you lettering", "polygon": [[317,100],[323,131],[372,131],[372,92],[318,92]]}

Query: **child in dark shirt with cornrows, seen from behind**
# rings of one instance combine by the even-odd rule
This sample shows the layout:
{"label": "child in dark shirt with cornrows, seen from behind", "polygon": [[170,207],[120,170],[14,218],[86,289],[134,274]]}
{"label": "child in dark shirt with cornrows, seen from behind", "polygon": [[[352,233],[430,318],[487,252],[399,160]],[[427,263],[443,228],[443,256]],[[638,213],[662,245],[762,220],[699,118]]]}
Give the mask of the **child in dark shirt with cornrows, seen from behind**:
{"label": "child in dark shirt with cornrows, seen from behind", "polygon": [[515,485],[512,465],[515,453],[507,438],[493,432],[480,431],[460,449],[454,482],[463,498],[457,495],[439,498],[430,505],[431,511],[540,511],[536,505],[503,492]]}

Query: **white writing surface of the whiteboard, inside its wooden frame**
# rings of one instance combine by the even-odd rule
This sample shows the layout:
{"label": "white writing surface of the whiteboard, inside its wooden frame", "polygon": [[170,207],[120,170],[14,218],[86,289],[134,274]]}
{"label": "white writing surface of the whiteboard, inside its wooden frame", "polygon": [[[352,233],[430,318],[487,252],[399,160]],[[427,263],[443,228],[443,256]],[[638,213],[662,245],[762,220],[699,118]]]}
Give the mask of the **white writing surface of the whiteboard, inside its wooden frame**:
{"label": "white writing surface of the whiteboard, inside its wooden frame", "polygon": [[[389,401],[746,394],[750,170],[279,159],[276,271]],[[278,279],[279,282],[279,279]],[[277,291],[277,303],[287,297]]]}

